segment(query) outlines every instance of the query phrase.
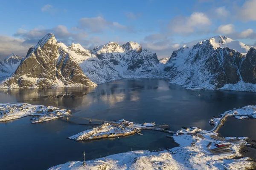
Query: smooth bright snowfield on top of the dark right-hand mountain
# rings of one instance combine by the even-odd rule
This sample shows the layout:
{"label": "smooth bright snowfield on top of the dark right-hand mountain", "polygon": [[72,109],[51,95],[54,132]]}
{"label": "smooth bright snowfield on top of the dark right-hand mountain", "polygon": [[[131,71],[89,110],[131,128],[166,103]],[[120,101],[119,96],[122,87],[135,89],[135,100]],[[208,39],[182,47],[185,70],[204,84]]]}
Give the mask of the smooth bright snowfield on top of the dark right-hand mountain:
{"label": "smooth bright snowfield on top of the dark right-hand mountain", "polygon": [[247,46],[244,43],[241,43],[240,41],[232,40],[231,38],[221,35],[212,37],[211,39],[209,39],[209,43],[212,44],[214,49],[217,49],[218,47],[228,47],[230,49],[234,49],[236,52],[240,52],[243,55],[246,55],[250,49],[249,46]]}

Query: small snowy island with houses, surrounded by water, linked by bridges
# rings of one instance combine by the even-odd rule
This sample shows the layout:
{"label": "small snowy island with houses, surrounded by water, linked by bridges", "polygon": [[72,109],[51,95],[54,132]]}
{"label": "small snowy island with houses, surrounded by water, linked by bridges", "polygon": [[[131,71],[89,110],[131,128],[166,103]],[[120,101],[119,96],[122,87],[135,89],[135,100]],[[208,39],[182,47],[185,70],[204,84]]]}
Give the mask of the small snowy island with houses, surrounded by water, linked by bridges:
{"label": "small snowy island with houses, surrounded by water, linked by bridges", "polygon": [[[84,130],[76,135],[70,136],[69,139],[75,141],[87,141],[102,138],[115,138],[140,133],[140,129],[153,126],[155,126],[154,122],[134,124],[133,122],[120,119],[105,122],[101,126],[93,129]],[[160,128],[158,128],[158,130],[160,130]]]}

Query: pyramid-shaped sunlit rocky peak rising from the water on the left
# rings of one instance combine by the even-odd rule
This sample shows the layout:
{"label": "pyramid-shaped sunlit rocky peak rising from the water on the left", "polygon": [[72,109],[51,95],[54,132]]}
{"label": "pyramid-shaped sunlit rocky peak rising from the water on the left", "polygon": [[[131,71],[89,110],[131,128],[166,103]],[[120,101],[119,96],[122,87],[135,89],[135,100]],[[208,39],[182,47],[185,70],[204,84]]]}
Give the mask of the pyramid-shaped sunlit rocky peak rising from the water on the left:
{"label": "pyramid-shaped sunlit rocky peak rising from the water on the left", "polygon": [[53,88],[64,86],[94,86],[61,49],[54,35],[47,34],[29,49],[15,73],[1,83],[2,88]]}

